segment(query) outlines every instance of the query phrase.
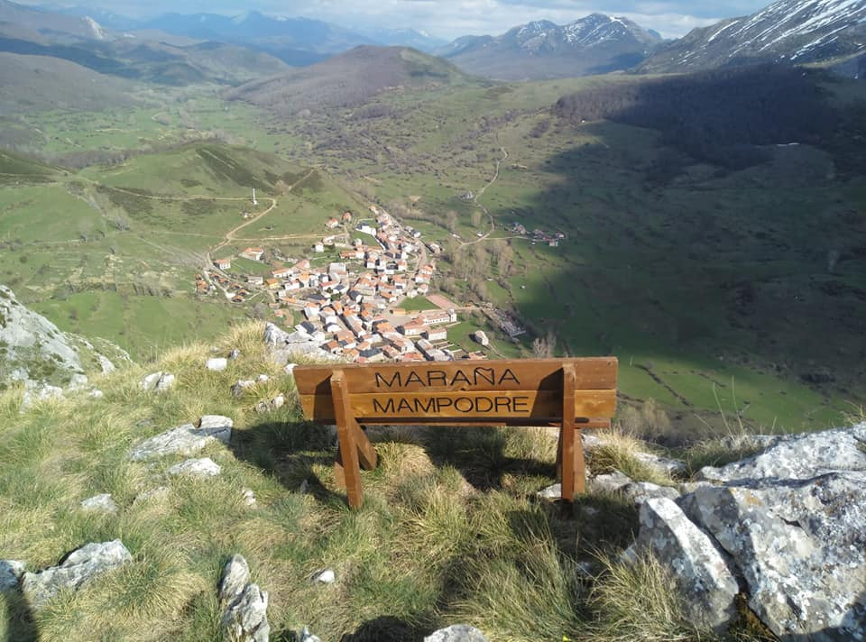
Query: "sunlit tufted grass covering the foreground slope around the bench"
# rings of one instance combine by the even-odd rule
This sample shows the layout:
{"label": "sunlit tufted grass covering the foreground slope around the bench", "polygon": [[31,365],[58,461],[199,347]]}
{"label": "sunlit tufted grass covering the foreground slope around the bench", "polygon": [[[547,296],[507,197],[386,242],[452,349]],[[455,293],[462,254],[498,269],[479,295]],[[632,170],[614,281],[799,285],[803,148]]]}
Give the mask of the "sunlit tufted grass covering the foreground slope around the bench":
{"label": "sunlit tufted grass covering the foreground slope around the bench", "polygon": [[[327,640],[406,642],[457,621],[495,640],[636,639],[636,631],[645,639],[712,639],[684,624],[658,565],[630,570],[612,561],[638,526],[621,496],[587,495],[573,520],[535,500],[554,481],[556,439],[547,433],[382,434],[379,468],[362,473],[364,508],[348,510],[334,484],[333,436],[299,418],[290,377],[263,353],[262,329],[241,326],[216,342],[220,353],[242,351],[225,372],[206,371],[212,353],[194,344],[97,381],[103,399],[76,397],[22,415],[20,392],[0,396],[3,555],[33,571],[115,537],[133,555],[44,610],[0,594],[0,638],[218,639],[217,582],[240,553],[270,593],[272,639],[309,626]],[[175,373],[176,386],[155,397],[143,392],[138,381],[153,370]],[[272,380],[231,397],[235,380],[259,373]],[[290,403],[253,411],[278,390]],[[166,469],[180,457],[128,461],[144,439],[209,413],[235,420],[230,445],[198,455],[222,467],[217,478],[170,477]],[[594,470],[631,462],[625,470],[645,478],[629,455],[634,443],[614,444],[590,462]],[[301,493],[304,481],[309,490]],[[165,490],[141,499],[158,488]],[[103,492],[116,514],[80,509]],[[593,572],[582,572],[581,562]],[[336,582],[311,582],[325,568]],[[747,629],[738,632],[749,639]]]}

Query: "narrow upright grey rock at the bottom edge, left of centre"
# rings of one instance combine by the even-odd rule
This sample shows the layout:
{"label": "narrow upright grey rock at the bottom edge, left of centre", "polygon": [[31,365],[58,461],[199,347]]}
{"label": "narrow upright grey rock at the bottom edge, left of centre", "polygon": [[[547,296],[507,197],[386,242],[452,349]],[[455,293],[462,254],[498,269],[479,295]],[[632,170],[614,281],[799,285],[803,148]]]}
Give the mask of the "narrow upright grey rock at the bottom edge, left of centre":
{"label": "narrow upright grey rock at the bottom edge, left of centre", "polygon": [[232,642],[267,642],[268,593],[250,583],[250,567],[243,555],[233,555],[223,570],[219,599],[225,606],[222,626]]}

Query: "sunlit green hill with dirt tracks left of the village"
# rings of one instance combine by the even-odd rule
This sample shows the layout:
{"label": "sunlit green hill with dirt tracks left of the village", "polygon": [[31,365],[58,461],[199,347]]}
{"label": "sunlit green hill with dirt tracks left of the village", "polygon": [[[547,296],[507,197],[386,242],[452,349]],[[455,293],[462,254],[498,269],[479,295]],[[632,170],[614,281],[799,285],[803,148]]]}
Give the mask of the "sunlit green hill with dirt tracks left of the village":
{"label": "sunlit green hill with dirt tracks left of the village", "polygon": [[[248,314],[216,294],[193,296],[213,247],[231,256],[267,243],[299,257],[320,238],[327,216],[356,205],[321,171],[216,143],[78,173],[9,154],[0,161],[6,170],[29,172],[4,175],[0,187],[4,282],[61,329],[103,336],[135,358],[207,340]],[[223,243],[244,223],[244,212],[265,210]],[[265,274],[270,267],[253,263],[250,270]]]}

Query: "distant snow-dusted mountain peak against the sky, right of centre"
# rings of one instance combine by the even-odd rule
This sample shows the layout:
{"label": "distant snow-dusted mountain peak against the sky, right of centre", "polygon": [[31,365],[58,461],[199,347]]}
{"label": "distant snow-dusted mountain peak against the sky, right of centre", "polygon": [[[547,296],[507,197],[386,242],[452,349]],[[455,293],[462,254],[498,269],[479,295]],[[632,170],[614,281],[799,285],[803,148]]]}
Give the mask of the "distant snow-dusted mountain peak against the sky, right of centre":
{"label": "distant snow-dusted mountain peak against the sky, right of centre", "polygon": [[628,69],[660,41],[627,18],[592,14],[565,25],[522,24],[495,38],[466,36],[437,53],[491,78],[560,78]]}

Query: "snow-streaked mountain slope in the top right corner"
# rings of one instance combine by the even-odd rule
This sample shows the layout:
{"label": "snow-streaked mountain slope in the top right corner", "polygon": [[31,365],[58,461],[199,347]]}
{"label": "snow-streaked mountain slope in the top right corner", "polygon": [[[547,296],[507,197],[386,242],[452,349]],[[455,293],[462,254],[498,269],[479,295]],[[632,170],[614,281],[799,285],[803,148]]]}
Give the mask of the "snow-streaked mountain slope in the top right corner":
{"label": "snow-streaked mountain slope in the top right corner", "polygon": [[643,71],[832,60],[866,51],[866,0],[778,0],[659,48]]}

